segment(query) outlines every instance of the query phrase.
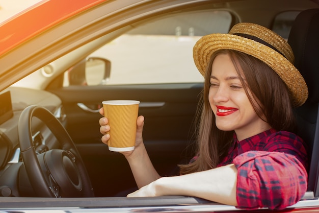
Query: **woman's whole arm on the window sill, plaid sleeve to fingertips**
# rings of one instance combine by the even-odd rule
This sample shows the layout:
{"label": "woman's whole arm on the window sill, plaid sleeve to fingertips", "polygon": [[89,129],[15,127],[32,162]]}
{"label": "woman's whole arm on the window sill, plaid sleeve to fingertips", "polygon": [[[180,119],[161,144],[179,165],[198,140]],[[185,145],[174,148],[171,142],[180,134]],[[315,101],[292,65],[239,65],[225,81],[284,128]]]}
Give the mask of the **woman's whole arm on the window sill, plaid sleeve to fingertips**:
{"label": "woman's whole arm on the window sill, plaid sleeve to fingertips", "polygon": [[307,172],[294,155],[249,151],[234,158],[234,164],[163,177],[128,197],[183,195],[245,209],[282,209],[298,202],[306,190]]}

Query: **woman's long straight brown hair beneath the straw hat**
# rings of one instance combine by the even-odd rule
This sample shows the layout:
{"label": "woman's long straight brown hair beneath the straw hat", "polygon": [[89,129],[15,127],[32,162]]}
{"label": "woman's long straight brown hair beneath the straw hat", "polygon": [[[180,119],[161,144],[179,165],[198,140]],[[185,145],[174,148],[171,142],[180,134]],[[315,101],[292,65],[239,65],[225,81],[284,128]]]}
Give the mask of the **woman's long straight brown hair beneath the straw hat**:
{"label": "woman's long straight brown hair beneath the straw hat", "polygon": [[296,130],[289,90],[276,72],[259,59],[245,53],[233,50],[217,51],[211,56],[207,66],[198,108],[197,159],[192,163],[179,165],[180,174],[216,168],[233,144],[234,131],[222,131],[217,128],[215,115],[208,101],[211,66],[219,54],[228,54],[230,57],[248,99],[260,119],[277,131]]}

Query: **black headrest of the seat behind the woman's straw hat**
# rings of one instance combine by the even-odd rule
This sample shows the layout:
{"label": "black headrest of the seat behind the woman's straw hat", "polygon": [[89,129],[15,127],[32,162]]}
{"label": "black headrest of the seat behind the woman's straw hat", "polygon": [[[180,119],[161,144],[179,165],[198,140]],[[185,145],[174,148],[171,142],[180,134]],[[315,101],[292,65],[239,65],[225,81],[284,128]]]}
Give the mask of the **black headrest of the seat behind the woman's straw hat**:
{"label": "black headrest of the seat behind the woman's straw hat", "polygon": [[295,66],[308,86],[307,102],[319,102],[319,8],[302,11],[291,28],[288,43]]}

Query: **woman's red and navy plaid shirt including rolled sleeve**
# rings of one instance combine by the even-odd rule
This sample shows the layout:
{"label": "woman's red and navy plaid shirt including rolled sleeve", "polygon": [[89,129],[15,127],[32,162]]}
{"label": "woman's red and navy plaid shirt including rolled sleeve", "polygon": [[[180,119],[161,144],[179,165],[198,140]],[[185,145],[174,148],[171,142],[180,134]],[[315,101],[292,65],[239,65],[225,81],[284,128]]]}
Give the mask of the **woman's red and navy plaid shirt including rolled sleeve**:
{"label": "woman's red and navy plaid shirt including rolled sleeve", "polygon": [[307,190],[307,152],[297,135],[274,129],[235,143],[218,165],[234,163],[238,208],[282,209]]}

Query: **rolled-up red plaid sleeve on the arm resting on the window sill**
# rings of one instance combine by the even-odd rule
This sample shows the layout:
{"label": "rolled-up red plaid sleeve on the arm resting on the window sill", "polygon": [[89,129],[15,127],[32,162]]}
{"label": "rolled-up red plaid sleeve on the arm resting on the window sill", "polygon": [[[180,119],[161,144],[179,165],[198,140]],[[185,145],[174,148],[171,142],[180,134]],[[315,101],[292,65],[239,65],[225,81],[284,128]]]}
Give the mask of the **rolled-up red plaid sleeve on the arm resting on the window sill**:
{"label": "rolled-up red plaid sleeve on the arm resting on the window sill", "polygon": [[282,209],[298,202],[307,190],[307,172],[283,152],[248,151],[234,158],[238,208]]}

